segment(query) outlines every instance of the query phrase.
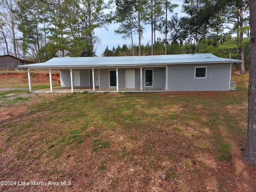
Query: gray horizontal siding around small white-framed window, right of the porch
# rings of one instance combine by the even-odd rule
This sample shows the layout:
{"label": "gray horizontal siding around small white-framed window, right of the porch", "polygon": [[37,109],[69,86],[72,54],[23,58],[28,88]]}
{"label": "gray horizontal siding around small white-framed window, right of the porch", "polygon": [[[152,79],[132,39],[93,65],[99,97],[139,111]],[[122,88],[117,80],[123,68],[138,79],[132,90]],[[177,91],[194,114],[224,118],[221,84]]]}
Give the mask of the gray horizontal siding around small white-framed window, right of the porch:
{"label": "gray horizontal siding around small white-framed window, right of the porch", "polygon": [[[230,90],[231,64],[169,65],[168,91]],[[207,78],[194,78],[195,66],[207,66]]]}

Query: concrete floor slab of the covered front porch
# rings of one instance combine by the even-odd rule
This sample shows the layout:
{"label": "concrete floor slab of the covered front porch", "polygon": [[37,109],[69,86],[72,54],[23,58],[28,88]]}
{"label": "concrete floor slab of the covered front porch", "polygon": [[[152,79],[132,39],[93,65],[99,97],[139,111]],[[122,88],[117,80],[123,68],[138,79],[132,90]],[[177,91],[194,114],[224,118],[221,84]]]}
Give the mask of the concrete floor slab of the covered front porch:
{"label": "concrete floor slab of the covered front porch", "polygon": [[41,89],[41,90],[34,90],[31,91],[32,93],[73,93],[73,92],[88,92],[88,93],[118,93],[118,92],[124,92],[124,93],[132,93],[132,92],[166,92],[165,89],[158,88],[142,88],[140,89],[132,89],[132,88],[126,88],[126,89],[120,89],[116,90],[114,88],[108,88],[108,89],[100,89],[99,86],[95,87],[95,90],[91,86],[74,86],[74,90],[71,91],[71,87],[53,87]]}

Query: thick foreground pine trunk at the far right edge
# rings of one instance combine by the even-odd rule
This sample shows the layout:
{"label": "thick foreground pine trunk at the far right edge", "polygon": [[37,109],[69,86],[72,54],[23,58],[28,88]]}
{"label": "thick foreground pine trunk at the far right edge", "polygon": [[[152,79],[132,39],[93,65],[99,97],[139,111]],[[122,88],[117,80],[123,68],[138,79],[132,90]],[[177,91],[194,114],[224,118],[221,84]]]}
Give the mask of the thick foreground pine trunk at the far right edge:
{"label": "thick foreground pine trunk at the far right edge", "polygon": [[248,131],[244,160],[256,166],[256,1],[250,6],[250,78],[248,90]]}

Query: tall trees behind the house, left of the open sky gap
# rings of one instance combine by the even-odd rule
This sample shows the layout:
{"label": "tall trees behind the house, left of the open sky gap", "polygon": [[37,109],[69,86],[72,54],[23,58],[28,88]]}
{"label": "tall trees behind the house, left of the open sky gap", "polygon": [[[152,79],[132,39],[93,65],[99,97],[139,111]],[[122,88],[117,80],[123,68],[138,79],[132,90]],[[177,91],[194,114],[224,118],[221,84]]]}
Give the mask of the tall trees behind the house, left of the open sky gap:
{"label": "tall trees behind the house, left of the open sky gap", "polygon": [[112,20],[104,0],[1,0],[2,52],[44,62],[54,56],[95,56],[95,28]]}

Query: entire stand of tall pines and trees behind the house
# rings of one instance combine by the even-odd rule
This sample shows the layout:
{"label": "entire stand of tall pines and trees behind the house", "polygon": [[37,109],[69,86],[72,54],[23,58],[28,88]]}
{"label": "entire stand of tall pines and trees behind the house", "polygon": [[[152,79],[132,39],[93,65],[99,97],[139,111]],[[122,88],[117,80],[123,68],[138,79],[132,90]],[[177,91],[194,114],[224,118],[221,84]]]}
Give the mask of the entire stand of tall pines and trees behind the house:
{"label": "entire stand of tall pines and trees behind the house", "polygon": [[[214,52],[222,46],[218,54],[232,48],[233,58],[244,59],[247,0],[184,0],[180,18],[173,12],[177,6],[171,0],[0,0],[0,47],[36,62],[95,56],[101,40],[94,30],[116,22],[115,32],[132,43],[120,54],[106,48],[103,56]],[[151,27],[151,39],[142,45],[145,26]]]}

